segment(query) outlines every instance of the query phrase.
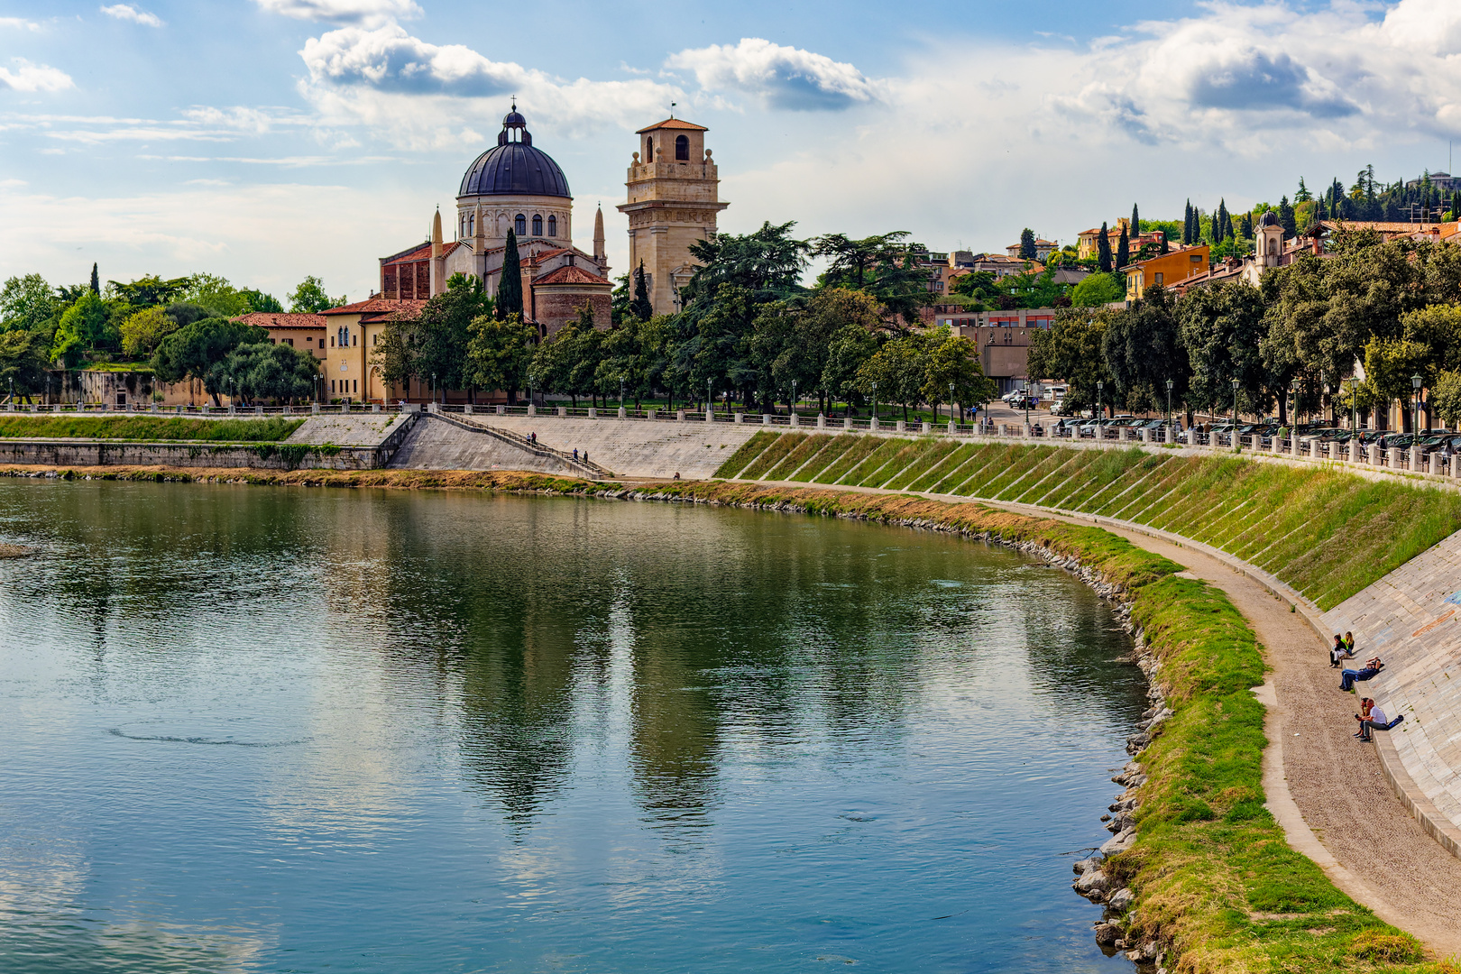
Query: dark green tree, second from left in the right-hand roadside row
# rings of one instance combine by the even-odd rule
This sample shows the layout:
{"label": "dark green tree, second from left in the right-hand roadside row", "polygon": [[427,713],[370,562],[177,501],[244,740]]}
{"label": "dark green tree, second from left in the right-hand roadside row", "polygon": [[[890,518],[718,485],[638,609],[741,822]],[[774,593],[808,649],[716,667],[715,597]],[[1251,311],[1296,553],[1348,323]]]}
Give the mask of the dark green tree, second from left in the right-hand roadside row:
{"label": "dark green tree, second from left in the right-hand roadside row", "polygon": [[1153,285],[1134,307],[1107,318],[1102,352],[1113,384],[1109,402],[1129,410],[1164,409],[1167,380],[1175,402],[1186,397],[1191,365],[1175,305],[1166,288]]}

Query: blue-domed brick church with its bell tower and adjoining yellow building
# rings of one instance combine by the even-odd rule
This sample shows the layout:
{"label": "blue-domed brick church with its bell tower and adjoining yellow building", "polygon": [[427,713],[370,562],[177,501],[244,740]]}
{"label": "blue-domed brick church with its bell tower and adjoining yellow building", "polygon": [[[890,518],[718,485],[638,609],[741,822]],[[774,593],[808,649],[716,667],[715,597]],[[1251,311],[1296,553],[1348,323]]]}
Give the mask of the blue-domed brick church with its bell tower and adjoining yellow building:
{"label": "blue-domed brick church with its bell tower and adjoining yellow building", "polygon": [[[679,288],[690,280],[694,263],[690,245],[716,232],[719,174],[704,146],[704,126],[666,118],[637,134],[643,152],[634,153],[619,210],[630,219],[630,260],[643,261],[650,302],[657,314],[676,311]],[[513,110],[503,118],[497,145],[479,155],[449,215],[432,215],[431,239],[380,258],[380,292],[365,301],[332,308],[330,348],[324,369],[332,397],[355,400],[427,399],[428,388],[387,388],[370,364],[370,350],[386,324],[415,315],[421,305],[446,289],[451,275],[479,279],[497,292],[503,273],[507,232],[517,239],[523,279],[523,314],[551,336],[587,305],[598,327],[611,321],[609,263],[603,245],[603,212],[593,218],[593,253],[573,245],[573,194],[562,168],[533,145],[527,120]],[[465,394],[450,394],[465,399]]]}

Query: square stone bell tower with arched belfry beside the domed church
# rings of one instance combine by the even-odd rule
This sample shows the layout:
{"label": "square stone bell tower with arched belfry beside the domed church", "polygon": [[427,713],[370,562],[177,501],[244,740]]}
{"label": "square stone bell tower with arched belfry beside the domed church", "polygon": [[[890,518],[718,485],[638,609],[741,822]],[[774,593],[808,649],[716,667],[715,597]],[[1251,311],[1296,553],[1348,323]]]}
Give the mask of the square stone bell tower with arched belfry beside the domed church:
{"label": "square stone bell tower with arched belfry beside the domed church", "polygon": [[695,272],[690,245],[716,234],[720,177],[706,149],[706,129],[666,118],[640,129],[640,150],[630,164],[628,200],[619,212],[630,218],[630,282],[644,261],[655,314],[679,311],[679,289]]}

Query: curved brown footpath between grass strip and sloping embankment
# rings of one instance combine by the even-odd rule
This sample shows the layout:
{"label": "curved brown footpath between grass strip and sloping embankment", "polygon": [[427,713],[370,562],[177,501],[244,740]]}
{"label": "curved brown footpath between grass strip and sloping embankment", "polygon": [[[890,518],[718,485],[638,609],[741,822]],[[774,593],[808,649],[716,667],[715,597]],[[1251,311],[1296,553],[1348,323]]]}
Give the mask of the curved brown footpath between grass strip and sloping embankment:
{"label": "curved brown footpath between grass strip and sloping embankment", "polygon": [[[796,482],[757,483],[806,488]],[[1435,954],[1461,954],[1461,859],[1432,838],[1395,796],[1375,746],[1350,736],[1357,697],[1340,691],[1338,672],[1330,669],[1328,644],[1319,638],[1316,624],[1306,613],[1290,612],[1290,605],[1300,606],[1305,600],[1284,591],[1287,586],[1277,580],[1259,581],[1264,572],[1223,552],[1140,524],[1030,504],[944,494],[918,496],[953,504],[973,501],[1099,526],[1186,565],[1185,574],[1221,588],[1254,626],[1273,667],[1268,682],[1255,691],[1268,707],[1264,791],[1289,844],[1324,869],[1340,889]]]}

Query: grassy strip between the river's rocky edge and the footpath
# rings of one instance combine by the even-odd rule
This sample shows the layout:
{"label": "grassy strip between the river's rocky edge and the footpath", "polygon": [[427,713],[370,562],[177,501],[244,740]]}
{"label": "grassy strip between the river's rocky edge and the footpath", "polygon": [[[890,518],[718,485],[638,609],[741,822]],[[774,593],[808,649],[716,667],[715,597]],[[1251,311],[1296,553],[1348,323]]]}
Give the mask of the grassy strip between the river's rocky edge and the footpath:
{"label": "grassy strip between the river's rocky edge and the footpath", "polygon": [[1221,590],[1097,527],[888,494],[726,482],[647,488],[701,502],[773,507],[1034,542],[1072,556],[1132,602],[1175,716],[1140,756],[1138,838],[1110,869],[1137,892],[1128,942],[1160,939],[1175,971],[1430,971],[1420,945],[1350,900],[1284,841],[1264,808],[1262,648]]}

